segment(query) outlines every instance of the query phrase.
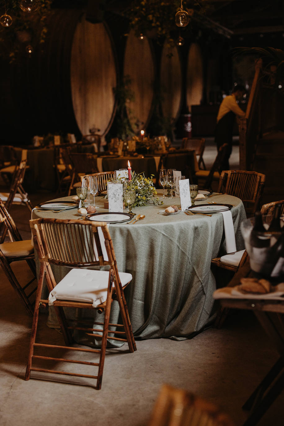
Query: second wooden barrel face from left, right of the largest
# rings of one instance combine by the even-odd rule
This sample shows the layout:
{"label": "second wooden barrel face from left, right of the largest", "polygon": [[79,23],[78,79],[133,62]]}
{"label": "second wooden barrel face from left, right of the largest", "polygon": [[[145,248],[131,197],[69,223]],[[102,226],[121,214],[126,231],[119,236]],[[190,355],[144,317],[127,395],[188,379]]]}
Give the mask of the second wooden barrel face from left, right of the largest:
{"label": "second wooden barrel face from left, right of the largest", "polygon": [[135,99],[129,102],[128,116],[133,125],[139,122],[139,130],[145,129],[152,112],[155,68],[152,50],[147,37],[141,40],[130,32],[124,54],[124,75],[131,78],[130,89]]}

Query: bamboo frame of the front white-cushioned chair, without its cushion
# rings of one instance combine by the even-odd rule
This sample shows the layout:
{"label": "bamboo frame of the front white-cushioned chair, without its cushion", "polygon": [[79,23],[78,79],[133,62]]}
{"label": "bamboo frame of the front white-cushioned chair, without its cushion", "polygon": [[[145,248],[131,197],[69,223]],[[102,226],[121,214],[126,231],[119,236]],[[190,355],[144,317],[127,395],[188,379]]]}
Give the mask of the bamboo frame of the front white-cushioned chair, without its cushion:
{"label": "bamboo frame of the front white-cushioned chair, without its cushion", "polygon": [[[29,380],[31,371],[42,371],[45,373],[64,374],[70,376],[89,377],[92,379],[96,379],[97,383],[95,389],[100,389],[103,376],[103,365],[105,360],[107,339],[109,338],[111,340],[127,342],[129,345],[129,351],[136,351],[135,340],[133,337],[132,327],[126,305],[126,299],[123,294],[123,288],[125,288],[126,285],[128,285],[129,283],[127,283],[123,287],[121,285],[118,267],[115,259],[115,252],[107,224],[105,222],[92,222],[92,224],[85,224],[76,220],[35,219],[30,221],[30,226],[34,237],[34,246],[37,250],[40,261],[40,276],[38,281],[37,298],[35,303],[34,320],[32,325],[32,336],[29,347],[29,359],[26,368],[25,380]],[[105,238],[105,248],[109,259],[108,261],[103,260],[103,251],[98,236],[98,228],[101,228],[103,236]],[[95,257],[93,241],[95,241],[98,250],[98,261],[94,260]],[[55,281],[55,277],[52,273],[51,264],[59,266],[68,266],[72,268],[86,268],[91,266],[93,267],[107,265],[109,266],[107,298],[105,302],[101,303],[96,308],[92,306],[91,302],[76,302],[70,300],[56,300],[54,302],[53,306],[55,308],[57,319],[60,324],[60,328],[62,330],[62,335],[66,346],[35,343],[39,306],[40,304],[48,304],[48,300],[41,299],[43,277],[46,278],[47,287],[49,291],[52,291],[52,289],[55,288],[57,284]],[[123,325],[109,323],[110,309],[113,300],[118,301]],[[103,325],[103,330],[100,328],[92,328],[92,325],[90,326],[90,324],[88,323],[82,326],[82,322],[78,320],[75,320],[71,323],[71,325],[68,325],[66,317],[64,315],[63,307],[97,309],[99,313],[102,313],[104,311],[104,321],[95,322],[96,325]],[[74,325],[74,322],[79,322],[80,327]],[[94,322],[92,322],[92,324],[93,323]],[[119,331],[110,330],[109,326],[119,327]],[[122,331],[121,327],[124,328],[124,331]],[[102,339],[101,348],[83,349],[71,347],[70,345],[72,344],[72,330],[81,330],[85,331],[88,336],[100,337]],[[94,331],[103,333],[102,335],[94,334]],[[114,337],[109,336],[109,334],[114,335]],[[99,353],[99,363],[72,360],[73,363],[83,363],[90,366],[98,367],[98,374],[94,376],[72,373],[68,371],[56,371],[46,368],[37,368],[32,365],[32,361],[36,358],[40,358],[42,360],[50,359],[46,356],[34,355],[34,347],[66,348],[67,346],[69,350],[73,351]],[[65,360],[62,358],[52,358],[52,360],[58,360],[60,362],[67,363],[70,362],[70,360]]]}

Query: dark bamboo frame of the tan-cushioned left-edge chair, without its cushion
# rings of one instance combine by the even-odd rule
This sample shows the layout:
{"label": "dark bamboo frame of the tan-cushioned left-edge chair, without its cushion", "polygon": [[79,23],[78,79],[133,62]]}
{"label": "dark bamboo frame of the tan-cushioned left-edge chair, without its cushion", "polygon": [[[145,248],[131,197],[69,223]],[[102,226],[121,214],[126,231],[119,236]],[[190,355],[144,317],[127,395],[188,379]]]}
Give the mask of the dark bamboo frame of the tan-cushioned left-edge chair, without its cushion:
{"label": "dark bamboo frame of the tan-cushioned left-edge chair, without its cushion", "polygon": [[[2,233],[0,237],[0,244],[3,244],[7,231],[9,231],[9,234],[12,236],[14,241],[23,241],[22,237],[20,236],[20,232],[15,225],[14,220],[12,219],[10,213],[8,212],[6,206],[3,204],[3,201],[1,199],[0,199],[0,222],[1,222],[1,230],[3,230],[4,228],[4,232]],[[9,242],[8,244],[11,244],[11,248],[13,248],[13,242]],[[27,262],[30,270],[32,271],[34,275],[34,278],[32,278],[23,287],[20,285],[19,281],[17,280],[10,266],[10,263],[18,262],[20,260],[25,260]],[[30,316],[32,316],[34,308],[33,308],[33,302],[31,298],[37,289],[37,286],[34,286],[34,288],[30,287],[32,282],[34,282],[34,280],[36,279],[34,253],[27,256],[5,256],[5,254],[0,248],[0,266],[3,269],[3,272],[5,273],[6,277],[9,279],[11,286],[14,288],[17,295],[19,296],[20,301],[24,305],[27,313]],[[29,291],[29,293],[26,294],[26,291]]]}

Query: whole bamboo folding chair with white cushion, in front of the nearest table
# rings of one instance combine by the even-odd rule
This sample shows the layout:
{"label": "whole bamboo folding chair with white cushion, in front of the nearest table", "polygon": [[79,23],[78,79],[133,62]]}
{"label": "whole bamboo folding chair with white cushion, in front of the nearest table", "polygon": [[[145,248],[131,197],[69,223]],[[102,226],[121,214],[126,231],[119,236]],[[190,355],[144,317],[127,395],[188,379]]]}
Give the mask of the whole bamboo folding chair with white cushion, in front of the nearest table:
{"label": "whole bamboo folding chair with white cushion, in front of the nearest table", "polygon": [[[132,275],[118,272],[112,239],[105,222],[92,222],[89,224],[76,220],[35,219],[30,221],[30,225],[34,236],[34,246],[40,261],[40,276],[29,347],[29,360],[26,368],[26,380],[29,380],[31,371],[42,371],[96,379],[95,389],[100,389],[107,340],[127,342],[130,352],[136,351],[126,300],[123,294],[123,288],[129,284]],[[58,284],[52,273],[52,264],[72,268]],[[94,266],[109,266],[109,271],[85,269],[86,267]],[[50,292],[49,300],[41,299],[43,277],[46,279]],[[109,323],[113,300],[118,301],[123,325]],[[66,346],[35,343],[40,304],[54,306]],[[88,322],[84,324],[78,318],[77,320],[67,321],[63,307],[97,309],[99,313],[105,312],[104,321],[92,321],[92,325],[98,325],[96,328],[92,328],[92,325]],[[118,331],[110,328],[118,328]],[[84,331],[89,338],[101,339],[101,348],[83,349],[71,347],[72,330]],[[43,355],[34,354],[34,348],[43,348]],[[55,351],[57,349],[68,349],[100,354],[99,363],[49,357],[46,356],[47,348],[50,350],[55,349]],[[53,360],[60,363],[71,362],[95,366],[98,367],[98,373],[97,375],[86,375],[70,371],[57,371],[51,368],[38,368],[33,364],[35,360],[47,362]]]}

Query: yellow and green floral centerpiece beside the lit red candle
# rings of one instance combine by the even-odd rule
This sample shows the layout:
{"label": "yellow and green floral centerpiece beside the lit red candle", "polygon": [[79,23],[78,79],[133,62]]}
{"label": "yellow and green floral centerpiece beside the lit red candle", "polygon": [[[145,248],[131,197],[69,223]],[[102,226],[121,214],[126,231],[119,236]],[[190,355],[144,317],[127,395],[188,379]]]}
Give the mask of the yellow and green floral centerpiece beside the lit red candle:
{"label": "yellow and green floral centerpiece beside the lit red candle", "polygon": [[163,201],[159,200],[157,197],[157,191],[154,187],[153,176],[150,178],[146,178],[144,173],[136,174],[132,173],[132,185],[135,188],[136,198],[133,203],[133,207],[135,206],[146,206],[153,202],[155,206],[159,204],[163,204]]}

